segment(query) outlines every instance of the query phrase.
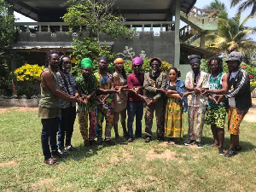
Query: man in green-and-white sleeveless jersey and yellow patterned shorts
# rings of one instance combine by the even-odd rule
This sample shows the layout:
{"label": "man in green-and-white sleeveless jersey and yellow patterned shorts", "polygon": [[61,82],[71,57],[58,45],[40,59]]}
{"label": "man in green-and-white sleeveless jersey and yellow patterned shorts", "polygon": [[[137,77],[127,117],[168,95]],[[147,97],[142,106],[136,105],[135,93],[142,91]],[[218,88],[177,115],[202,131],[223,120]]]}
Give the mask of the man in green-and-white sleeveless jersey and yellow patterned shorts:
{"label": "man in green-and-white sleeveless jersey and yellow patterned shorts", "polygon": [[223,94],[228,91],[228,74],[223,72],[223,61],[219,57],[213,57],[208,62],[208,69],[211,73],[209,90],[202,90],[202,94],[209,96],[206,123],[211,125],[214,139],[209,147],[218,146],[218,154],[224,155],[223,143],[226,108],[222,98]]}

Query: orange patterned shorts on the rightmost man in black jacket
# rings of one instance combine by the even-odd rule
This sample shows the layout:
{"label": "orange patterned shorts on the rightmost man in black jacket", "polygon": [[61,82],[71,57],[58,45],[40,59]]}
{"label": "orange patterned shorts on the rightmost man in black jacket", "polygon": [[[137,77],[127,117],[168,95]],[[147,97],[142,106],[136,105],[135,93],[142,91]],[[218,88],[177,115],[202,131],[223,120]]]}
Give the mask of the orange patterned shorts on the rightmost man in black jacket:
{"label": "orange patterned shorts on the rightmost man in black jacket", "polygon": [[230,134],[239,135],[239,127],[241,124],[241,120],[244,118],[245,115],[246,113],[237,114],[236,107],[229,108],[228,125],[229,125]]}

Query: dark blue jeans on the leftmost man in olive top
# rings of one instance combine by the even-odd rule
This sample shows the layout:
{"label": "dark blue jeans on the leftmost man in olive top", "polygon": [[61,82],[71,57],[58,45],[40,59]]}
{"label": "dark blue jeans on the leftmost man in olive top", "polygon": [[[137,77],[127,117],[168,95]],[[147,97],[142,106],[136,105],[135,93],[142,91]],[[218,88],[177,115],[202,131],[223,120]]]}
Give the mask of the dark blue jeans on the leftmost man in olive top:
{"label": "dark blue jeans on the leftmost man in olive top", "polygon": [[[56,134],[58,131],[60,117],[41,119],[43,129],[41,133],[41,143],[43,148],[44,160],[51,158],[51,153],[58,151]],[[51,153],[49,150],[51,148]]]}

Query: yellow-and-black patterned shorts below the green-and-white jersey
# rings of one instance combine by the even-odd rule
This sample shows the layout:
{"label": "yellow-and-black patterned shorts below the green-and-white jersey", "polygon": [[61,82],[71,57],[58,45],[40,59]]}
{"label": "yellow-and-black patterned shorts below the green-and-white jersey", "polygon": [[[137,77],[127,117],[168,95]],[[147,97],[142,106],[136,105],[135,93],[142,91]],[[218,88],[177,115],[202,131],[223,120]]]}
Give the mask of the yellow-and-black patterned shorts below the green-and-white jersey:
{"label": "yellow-and-black patterned shorts below the green-and-white jersey", "polygon": [[207,108],[207,116],[205,122],[207,125],[216,125],[218,128],[224,129],[226,119],[226,108]]}

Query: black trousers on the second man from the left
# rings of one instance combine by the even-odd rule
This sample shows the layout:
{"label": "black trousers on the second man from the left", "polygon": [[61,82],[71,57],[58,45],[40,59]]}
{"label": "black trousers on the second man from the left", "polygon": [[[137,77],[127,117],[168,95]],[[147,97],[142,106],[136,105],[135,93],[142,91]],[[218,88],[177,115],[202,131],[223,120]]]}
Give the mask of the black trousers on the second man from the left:
{"label": "black trousers on the second man from the left", "polygon": [[61,108],[61,120],[58,133],[59,148],[64,148],[64,139],[66,135],[66,145],[71,145],[73,135],[73,124],[76,119],[76,107]]}

